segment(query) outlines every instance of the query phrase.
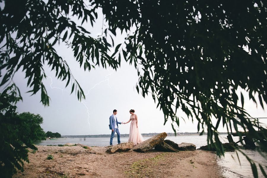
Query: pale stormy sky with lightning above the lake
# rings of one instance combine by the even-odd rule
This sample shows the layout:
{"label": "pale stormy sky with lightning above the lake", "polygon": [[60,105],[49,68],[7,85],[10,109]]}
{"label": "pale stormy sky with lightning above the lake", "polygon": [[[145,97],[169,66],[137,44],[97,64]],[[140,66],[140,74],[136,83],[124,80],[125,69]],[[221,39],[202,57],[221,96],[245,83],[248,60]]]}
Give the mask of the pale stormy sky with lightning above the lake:
{"label": "pale stormy sky with lightning above the lake", "polygon": [[[77,19],[73,20],[78,22]],[[89,22],[83,27],[90,31],[93,37],[97,37],[102,31],[102,20],[103,15],[101,11],[98,11],[98,20],[94,26],[92,27]],[[119,33],[119,31],[117,32]],[[117,36],[115,46],[122,43],[125,36],[125,32]],[[130,118],[129,110],[134,109],[138,116],[138,126],[141,133],[174,132],[170,121],[163,125],[163,112],[156,108],[157,104],[154,103],[152,97],[146,96],[144,98],[137,93],[135,86],[139,77],[133,65],[122,60],[117,71],[111,68],[96,67],[90,72],[85,72],[73,57],[70,48],[62,44],[55,45],[55,49],[66,60],[73,76],[84,90],[85,100],[79,102],[74,93],[70,95],[71,85],[65,88],[66,81],[57,80],[55,72],[50,71],[48,66],[44,66],[46,75],[49,76],[44,83],[51,98],[49,107],[45,107],[40,102],[40,92],[34,96],[26,93],[30,88],[27,88],[27,79],[24,78],[25,74],[21,70],[13,78],[23,97],[23,101],[17,104],[18,112],[40,114],[44,119],[41,127],[45,132],[58,132],[61,135],[110,134],[109,116],[112,115],[114,109],[118,111],[119,122],[127,122]],[[248,94],[245,94],[245,91],[242,92],[244,94],[244,108],[247,109],[247,112],[252,117],[267,117],[267,112],[260,107],[260,104],[257,108],[253,101],[249,100]],[[267,108],[266,104],[264,107]],[[196,120],[192,123],[192,120],[188,120],[182,111],[179,111],[178,115],[185,118],[185,121],[180,120],[179,128],[175,127],[178,132],[197,132]],[[215,123],[216,119],[213,121]],[[129,127],[130,123],[119,125],[120,133],[128,134]],[[220,126],[218,131],[226,131],[226,128]]]}

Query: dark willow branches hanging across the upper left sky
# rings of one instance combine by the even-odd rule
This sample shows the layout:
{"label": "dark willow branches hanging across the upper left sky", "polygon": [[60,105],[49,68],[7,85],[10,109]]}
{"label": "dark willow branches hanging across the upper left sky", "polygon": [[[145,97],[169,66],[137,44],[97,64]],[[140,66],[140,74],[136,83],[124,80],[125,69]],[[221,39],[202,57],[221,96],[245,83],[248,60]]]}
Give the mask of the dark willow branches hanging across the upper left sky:
{"label": "dark willow branches hanging across the upper left sky", "polygon": [[0,46],[0,70],[4,69],[5,74],[0,86],[11,80],[15,72],[22,68],[28,79],[27,86],[31,88],[28,92],[36,94],[41,90],[42,103],[49,105],[43,84],[47,77],[43,66],[48,65],[56,71],[55,77],[67,81],[66,86],[71,82],[71,93],[75,89],[79,100],[85,98],[68,64],[54,49],[57,43],[65,43],[70,47],[84,70],[90,71],[100,63],[103,67],[117,68],[115,58],[107,55],[111,45],[107,43],[106,37],[92,38],[90,32],[70,18],[77,16],[82,20],[81,25],[90,19],[93,26],[97,18],[97,6],[94,3],[85,4],[81,0],[23,0],[4,1],[3,4],[0,16],[0,42],[3,42]]}

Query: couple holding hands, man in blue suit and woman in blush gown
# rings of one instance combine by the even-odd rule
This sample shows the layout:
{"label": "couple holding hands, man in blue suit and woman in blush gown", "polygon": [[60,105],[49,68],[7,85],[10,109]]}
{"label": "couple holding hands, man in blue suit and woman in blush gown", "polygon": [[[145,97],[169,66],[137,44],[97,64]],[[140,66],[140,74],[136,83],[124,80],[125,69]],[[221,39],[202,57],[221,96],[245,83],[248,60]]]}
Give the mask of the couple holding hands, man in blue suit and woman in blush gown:
{"label": "couple holding hands, man in blue suit and woman in blush gown", "polygon": [[143,136],[139,133],[138,125],[137,125],[137,115],[134,114],[134,109],[131,109],[130,111],[131,117],[128,120],[128,122],[118,122],[117,121],[117,110],[113,110],[113,114],[109,117],[109,129],[112,130],[111,136],[110,136],[110,142],[109,144],[112,145],[113,137],[115,135],[115,132],[117,133],[118,137],[118,144],[120,144],[120,132],[118,129],[118,124],[127,124],[131,121],[130,125],[130,133],[129,133],[129,139],[128,142],[134,142],[134,145],[137,145],[144,141]]}

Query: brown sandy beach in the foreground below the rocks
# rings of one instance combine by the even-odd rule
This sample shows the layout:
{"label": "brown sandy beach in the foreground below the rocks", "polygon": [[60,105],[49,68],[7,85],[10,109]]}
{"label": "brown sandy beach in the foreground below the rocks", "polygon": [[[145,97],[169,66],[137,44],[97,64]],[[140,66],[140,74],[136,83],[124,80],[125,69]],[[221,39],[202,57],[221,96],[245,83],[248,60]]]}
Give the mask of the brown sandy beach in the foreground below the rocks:
{"label": "brown sandy beach in the foreground below the rocks", "polygon": [[[40,146],[13,177],[222,177],[209,151],[107,154],[105,147]],[[47,160],[48,155],[54,159]]]}

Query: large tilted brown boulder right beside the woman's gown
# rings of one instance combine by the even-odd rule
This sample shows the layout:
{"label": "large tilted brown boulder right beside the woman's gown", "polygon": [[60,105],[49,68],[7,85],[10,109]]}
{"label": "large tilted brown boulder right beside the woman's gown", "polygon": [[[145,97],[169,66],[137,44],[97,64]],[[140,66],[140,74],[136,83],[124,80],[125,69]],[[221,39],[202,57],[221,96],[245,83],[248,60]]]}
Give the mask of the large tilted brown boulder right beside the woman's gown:
{"label": "large tilted brown boulder right beside the woman's gown", "polygon": [[162,143],[163,140],[166,138],[166,136],[167,136],[166,132],[155,135],[150,139],[147,139],[144,142],[134,146],[133,150],[136,152],[147,152],[148,150],[154,148],[156,145]]}

